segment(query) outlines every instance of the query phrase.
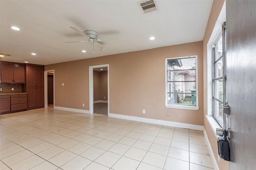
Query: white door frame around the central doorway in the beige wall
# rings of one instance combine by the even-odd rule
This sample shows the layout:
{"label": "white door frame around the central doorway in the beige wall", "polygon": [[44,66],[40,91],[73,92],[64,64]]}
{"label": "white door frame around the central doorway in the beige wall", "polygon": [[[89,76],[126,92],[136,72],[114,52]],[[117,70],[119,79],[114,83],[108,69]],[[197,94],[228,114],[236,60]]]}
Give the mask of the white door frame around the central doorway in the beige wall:
{"label": "white door frame around the central doorway in the beige wall", "polygon": [[108,67],[108,113],[109,113],[109,64],[89,66],[89,112],[93,113],[93,69],[100,67]]}

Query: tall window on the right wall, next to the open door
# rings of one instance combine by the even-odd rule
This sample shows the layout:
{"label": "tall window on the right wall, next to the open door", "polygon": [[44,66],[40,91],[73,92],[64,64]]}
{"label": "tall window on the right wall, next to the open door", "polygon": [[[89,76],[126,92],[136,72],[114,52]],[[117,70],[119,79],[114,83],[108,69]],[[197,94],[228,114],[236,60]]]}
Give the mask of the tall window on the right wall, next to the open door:
{"label": "tall window on the right wall, next to the open door", "polygon": [[212,115],[222,126],[226,126],[227,117],[223,114],[223,106],[227,105],[226,95],[226,23],[222,26],[222,34],[212,48]]}

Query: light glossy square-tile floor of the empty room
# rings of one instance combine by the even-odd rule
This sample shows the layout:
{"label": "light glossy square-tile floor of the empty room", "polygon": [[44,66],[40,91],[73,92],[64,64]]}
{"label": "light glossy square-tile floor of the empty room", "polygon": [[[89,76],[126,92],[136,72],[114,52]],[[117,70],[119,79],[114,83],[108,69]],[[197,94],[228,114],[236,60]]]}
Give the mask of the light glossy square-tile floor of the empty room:
{"label": "light glossy square-tile floor of the empty room", "polygon": [[0,123],[1,170],[213,170],[202,131],[52,107]]}

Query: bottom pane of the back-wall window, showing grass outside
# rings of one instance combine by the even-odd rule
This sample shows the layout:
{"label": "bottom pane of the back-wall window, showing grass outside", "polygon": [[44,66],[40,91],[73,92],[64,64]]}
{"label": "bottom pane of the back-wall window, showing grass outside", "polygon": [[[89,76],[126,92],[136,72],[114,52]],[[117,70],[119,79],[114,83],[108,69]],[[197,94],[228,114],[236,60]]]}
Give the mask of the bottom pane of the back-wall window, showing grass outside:
{"label": "bottom pane of the back-wall window, showing grass outside", "polygon": [[184,104],[196,106],[196,94],[171,94],[172,97],[168,99],[168,104]]}

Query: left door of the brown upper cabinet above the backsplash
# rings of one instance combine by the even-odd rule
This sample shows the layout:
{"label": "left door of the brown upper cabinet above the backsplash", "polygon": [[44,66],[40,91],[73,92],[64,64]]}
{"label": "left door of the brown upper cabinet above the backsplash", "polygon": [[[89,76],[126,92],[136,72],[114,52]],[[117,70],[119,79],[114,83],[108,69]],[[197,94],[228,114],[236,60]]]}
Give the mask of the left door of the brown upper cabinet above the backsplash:
{"label": "left door of the brown upper cabinet above the backsplash", "polygon": [[13,64],[1,64],[1,82],[13,82]]}

